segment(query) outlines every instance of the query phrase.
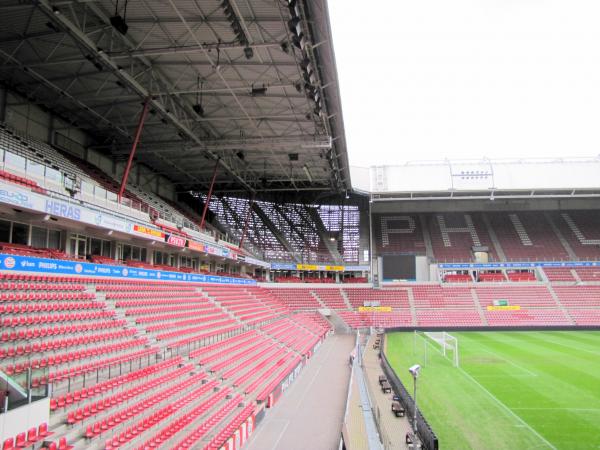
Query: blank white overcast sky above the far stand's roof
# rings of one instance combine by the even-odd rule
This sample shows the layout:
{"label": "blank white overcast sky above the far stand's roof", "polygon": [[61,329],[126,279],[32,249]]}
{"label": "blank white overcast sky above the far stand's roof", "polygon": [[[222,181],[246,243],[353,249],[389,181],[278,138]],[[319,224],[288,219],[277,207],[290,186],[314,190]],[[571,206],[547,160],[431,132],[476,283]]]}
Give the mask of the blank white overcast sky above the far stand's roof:
{"label": "blank white overcast sky above the far stand's roof", "polygon": [[329,8],[351,165],[600,153],[600,1]]}

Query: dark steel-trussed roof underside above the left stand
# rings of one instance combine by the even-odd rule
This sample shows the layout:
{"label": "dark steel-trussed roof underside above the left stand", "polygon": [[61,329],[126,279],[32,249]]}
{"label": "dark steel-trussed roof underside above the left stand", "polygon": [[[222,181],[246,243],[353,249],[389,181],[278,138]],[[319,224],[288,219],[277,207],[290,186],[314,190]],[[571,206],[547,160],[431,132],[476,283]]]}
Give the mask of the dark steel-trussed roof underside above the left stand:
{"label": "dark steel-trussed roof underside above the left stand", "polygon": [[0,82],[176,183],[350,189],[326,0],[7,0]]}

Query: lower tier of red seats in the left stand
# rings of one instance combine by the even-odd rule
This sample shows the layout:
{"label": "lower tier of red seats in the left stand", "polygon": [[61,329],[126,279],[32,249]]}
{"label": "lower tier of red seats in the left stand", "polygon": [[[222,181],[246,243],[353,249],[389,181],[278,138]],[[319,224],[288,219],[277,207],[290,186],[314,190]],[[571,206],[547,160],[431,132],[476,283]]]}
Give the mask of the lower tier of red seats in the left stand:
{"label": "lower tier of red seats in the left stand", "polygon": [[57,448],[226,439],[330,330],[259,287],[25,279],[0,284],[0,368],[54,389],[50,431],[18,448],[43,434]]}

